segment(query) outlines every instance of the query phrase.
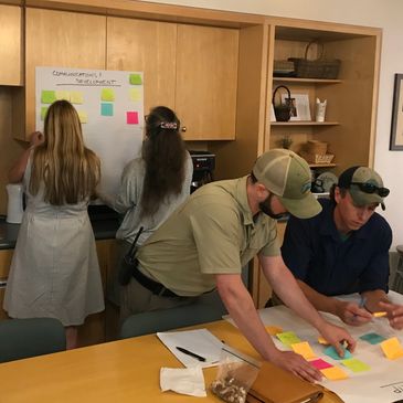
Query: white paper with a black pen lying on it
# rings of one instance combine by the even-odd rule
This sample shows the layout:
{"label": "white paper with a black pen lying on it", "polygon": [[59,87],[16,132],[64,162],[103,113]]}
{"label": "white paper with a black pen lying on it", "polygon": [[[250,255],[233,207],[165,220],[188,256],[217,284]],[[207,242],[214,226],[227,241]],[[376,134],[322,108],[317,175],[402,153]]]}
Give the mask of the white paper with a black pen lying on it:
{"label": "white paper with a black pen lying on it", "polygon": [[[187,368],[216,365],[220,361],[221,349],[225,346],[206,329],[157,332],[157,336]],[[177,347],[182,347],[205,358],[205,362],[179,351]]]}

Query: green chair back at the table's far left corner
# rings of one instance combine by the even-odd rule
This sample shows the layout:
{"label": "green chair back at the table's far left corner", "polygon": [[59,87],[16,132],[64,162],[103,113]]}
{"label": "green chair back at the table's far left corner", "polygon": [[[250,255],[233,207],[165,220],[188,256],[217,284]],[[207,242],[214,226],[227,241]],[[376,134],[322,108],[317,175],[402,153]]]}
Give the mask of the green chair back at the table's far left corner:
{"label": "green chair back at the table's far left corner", "polygon": [[0,320],[0,362],[66,349],[65,329],[54,318]]}

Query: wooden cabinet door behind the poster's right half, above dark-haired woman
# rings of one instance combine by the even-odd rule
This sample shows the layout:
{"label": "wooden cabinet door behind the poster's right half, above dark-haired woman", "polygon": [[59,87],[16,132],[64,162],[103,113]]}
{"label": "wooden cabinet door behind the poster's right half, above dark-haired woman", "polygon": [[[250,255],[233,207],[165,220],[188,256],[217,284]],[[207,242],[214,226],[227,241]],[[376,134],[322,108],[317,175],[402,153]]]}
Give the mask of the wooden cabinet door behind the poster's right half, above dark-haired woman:
{"label": "wooden cabinet door behind the poster's right half, above dark-haired woman", "polygon": [[107,70],[144,72],[145,114],[165,105],[174,109],[177,24],[107,19]]}

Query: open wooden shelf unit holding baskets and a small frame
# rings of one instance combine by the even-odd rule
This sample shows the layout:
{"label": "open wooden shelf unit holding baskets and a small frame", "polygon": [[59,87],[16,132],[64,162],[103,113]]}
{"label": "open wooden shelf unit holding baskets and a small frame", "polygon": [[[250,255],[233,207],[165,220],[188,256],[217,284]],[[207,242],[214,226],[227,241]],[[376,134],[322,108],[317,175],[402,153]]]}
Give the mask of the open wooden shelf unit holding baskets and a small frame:
{"label": "open wooden shelf unit holding baskets and a small frame", "polygon": [[[286,25],[282,21],[274,22],[272,35],[268,105],[275,87],[286,85],[291,95],[308,95],[312,121],[268,121],[266,148],[279,147],[285,136],[290,136],[291,149],[297,152],[304,151],[307,140],[320,140],[328,144],[328,153],[335,159],[331,165],[311,165],[312,168],[333,169],[338,174],[349,166],[372,166],[381,31],[306,21]],[[304,57],[314,40],[322,43],[324,57],[341,61],[338,79],[273,76],[274,60]],[[309,60],[319,59],[320,54],[321,46],[309,46]],[[316,98],[327,99],[325,123],[315,121]]]}

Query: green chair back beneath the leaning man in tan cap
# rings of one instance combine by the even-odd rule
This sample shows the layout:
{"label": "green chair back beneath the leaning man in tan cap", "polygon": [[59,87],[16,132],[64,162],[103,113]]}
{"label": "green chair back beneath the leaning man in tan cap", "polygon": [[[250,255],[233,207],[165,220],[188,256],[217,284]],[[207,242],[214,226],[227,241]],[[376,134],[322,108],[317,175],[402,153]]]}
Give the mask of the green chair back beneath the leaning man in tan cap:
{"label": "green chair back beneath the leaning man in tan cap", "polygon": [[213,291],[191,305],[129,316],[121,326],[120,339],[220,320],[226,310],[218,293]]}

